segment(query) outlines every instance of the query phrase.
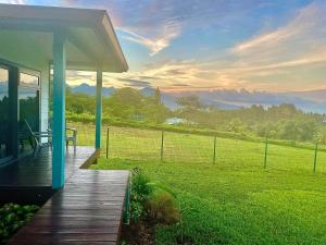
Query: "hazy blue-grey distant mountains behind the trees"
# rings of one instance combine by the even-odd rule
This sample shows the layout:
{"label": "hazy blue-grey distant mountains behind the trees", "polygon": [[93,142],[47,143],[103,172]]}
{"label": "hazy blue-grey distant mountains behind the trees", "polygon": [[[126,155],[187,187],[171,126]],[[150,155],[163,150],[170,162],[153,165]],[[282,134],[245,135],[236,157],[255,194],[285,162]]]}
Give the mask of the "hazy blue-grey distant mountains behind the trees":
{"label": "hazy blue-grey distant mountains behind the trees", "polygon": [[[71,87],[71,89],[73,93],[96,95],[96,86],[88,84],[80,84]],[[111,96],[115,89],[114,87],[103,87],[102,95],[104,97]],[[153,87],[145,87],[140,89],[140,93],[145,96],[151,96],[154,95],[155,90]],[[178,97],[190,95],[198,96],[204,105],[214,105],[226,110],[246,108],[252,105],[271,107],[292,103],[304,111],[326,113],[326,89],[290,93],[248,91],[247,89],[161,91],[162,102],[172,110],[178,108],[176,103]]]}

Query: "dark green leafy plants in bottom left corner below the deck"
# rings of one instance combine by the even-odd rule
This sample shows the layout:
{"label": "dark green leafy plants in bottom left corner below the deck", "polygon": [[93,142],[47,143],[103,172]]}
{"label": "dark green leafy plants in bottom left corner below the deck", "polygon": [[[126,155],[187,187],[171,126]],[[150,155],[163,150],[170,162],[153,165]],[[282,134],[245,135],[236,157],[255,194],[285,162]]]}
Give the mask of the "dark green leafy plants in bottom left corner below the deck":
{"label": "dark green leafy plants in bottom left corner below the deck", "polygon": [[7,204],[0,208],[0,244],[5,244],[18,229],[28,223],[38,208],[36,205],[16,204]]}

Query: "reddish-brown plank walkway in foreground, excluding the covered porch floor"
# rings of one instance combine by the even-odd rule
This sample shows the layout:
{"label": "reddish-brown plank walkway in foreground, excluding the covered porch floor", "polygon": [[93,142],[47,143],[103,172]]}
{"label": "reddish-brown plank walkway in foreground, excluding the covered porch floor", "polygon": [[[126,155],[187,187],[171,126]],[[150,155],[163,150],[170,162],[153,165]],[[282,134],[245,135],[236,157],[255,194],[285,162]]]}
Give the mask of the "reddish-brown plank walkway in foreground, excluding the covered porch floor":
{"label": "reddish-brown plank walkway in foreground, excluding the covered porch floor", "polygon": [[128,174],[78,170],[9,244],[117,244]]}

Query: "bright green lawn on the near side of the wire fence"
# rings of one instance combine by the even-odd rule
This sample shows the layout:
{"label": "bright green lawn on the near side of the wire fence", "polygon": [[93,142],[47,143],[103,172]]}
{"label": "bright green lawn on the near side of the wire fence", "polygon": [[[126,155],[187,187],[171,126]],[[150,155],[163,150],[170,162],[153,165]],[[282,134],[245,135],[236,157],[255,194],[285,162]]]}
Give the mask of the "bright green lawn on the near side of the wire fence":
{"label": "bright green lawn on the near side of the wire fence", "polygon": [[[93,169],[141,167],[173,186],[183,206],[185,244],[325,244],[325,174],[250,166],[101,159]],[[159,226],[156,244],[178,244],[177,225]]]}

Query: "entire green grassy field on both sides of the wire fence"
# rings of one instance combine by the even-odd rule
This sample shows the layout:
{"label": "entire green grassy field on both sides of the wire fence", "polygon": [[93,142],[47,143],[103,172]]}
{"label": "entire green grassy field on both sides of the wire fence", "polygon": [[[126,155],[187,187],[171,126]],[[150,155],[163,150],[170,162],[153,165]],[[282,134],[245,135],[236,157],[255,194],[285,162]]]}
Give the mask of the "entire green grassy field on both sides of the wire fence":
{"label": "entire green grassy field on both sides of the wire fence", "polygon": [[[79,144],[92,144],[83,126]],[[166,133],[162,163],[160,149],[160,132],[111,127],[109,159],[92,168],[140,167],[174,188],[197,210],[185,215],[190,244],[326,244],[326,152],[313,173],[313,150],[293,147],[271,145],[266,169],[261,143],[217,138],[215,164],[211,137]],[[156,229],[159,245],[177,237],[176,226]]]}

